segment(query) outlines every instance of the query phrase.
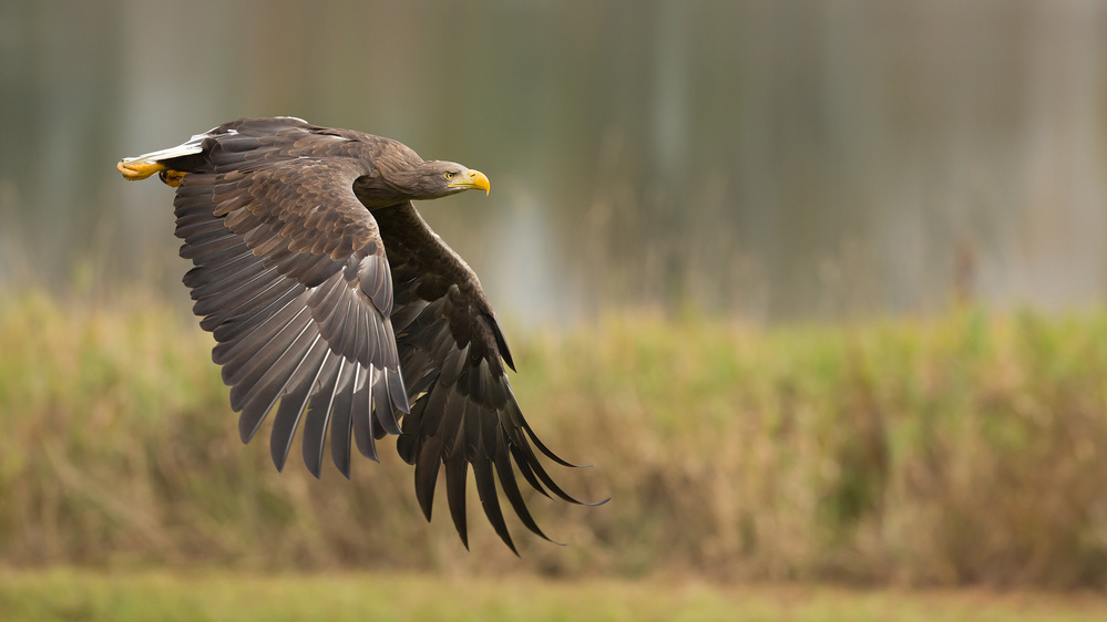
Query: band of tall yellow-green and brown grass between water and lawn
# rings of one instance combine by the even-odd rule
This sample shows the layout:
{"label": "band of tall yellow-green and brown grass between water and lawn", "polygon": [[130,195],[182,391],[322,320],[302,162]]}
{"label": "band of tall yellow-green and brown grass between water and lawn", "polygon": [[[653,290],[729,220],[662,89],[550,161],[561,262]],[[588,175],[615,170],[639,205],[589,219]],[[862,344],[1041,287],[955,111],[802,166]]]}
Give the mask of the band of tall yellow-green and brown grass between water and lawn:
{"label": "band of tall yellow-green and brown grass between water and lawn", "polygon": [[517,332],[524,412],[554,450],[596,465],[555,477],[613,497],[580,508],[532,496],[568,546],[510,523],[521,558],[479,517],[471,552],[444,506],[426,525],[388,446],[352,481],[332,468],[315,480],[297,453],[275,473],[266,440],[239,444],[211,338],[180,310],[8,296],[0,559],[1107,587],[1103,312],[771,330],[639,314]]}

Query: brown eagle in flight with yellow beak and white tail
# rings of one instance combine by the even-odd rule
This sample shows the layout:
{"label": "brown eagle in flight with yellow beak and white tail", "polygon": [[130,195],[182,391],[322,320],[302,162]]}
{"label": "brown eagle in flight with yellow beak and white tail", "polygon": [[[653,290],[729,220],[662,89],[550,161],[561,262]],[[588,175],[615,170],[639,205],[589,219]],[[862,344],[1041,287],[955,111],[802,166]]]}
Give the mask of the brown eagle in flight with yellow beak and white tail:
{"label": "brown eagle in flight with yellow beak and white tail", "polygon": [[539,460],[535,449],[577,466],[523,418],[508,382],[511,351],[480,280],[412,203],[488,194],[483,173],[287,116],[225,123],[116,168],[130,180],[157,174],[176,188],[193,311],[217,342],[212,357],[240,413],[243,443],[275,413],[269,450],[278,471],[297,428],[315,477],[328,432],[331,460],[347,478],[351,444],[378,460],[376,442],[397,435],[427,520],[443,470],[450,515],[469,547],[471,467],[484,515],[516,554],[496,480],[522,523],[546,540],[516,469],[546,497],[584,504]]}

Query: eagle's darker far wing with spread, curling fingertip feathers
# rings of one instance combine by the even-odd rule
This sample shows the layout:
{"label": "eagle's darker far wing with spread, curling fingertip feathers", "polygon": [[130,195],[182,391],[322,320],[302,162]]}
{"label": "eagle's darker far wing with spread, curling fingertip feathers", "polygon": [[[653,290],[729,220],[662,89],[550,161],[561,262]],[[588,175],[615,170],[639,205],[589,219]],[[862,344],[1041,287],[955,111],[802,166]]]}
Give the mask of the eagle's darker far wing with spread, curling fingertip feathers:
{"label": "eagle's darker far wing with spread, curling fingertip feathers", "polygon": [[541,444],[523,418],[505,373],[505,364],[513,364],[506,340],[480,281],[410,203],[376,216],[392,269],[391,320],[412,404],[397,448],[416,466],[416,497],[423,515],[430,520],[435,481],[444,468],[450,515],[468,546],[464,487],[472,465],[484,514],[512,551],[498,480],[523,526],[549,540],[526,508],[516,469],[543,495],[552,491],[582,502],[553,481],[531,444],[558,464],[574,465]]}

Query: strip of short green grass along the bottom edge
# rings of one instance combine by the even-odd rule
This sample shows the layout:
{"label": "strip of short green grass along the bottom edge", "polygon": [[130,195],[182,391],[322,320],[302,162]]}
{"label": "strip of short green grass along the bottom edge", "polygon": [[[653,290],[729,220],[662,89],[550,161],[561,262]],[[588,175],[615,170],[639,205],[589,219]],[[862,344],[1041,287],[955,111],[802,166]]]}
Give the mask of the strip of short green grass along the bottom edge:
{"label": "strip of short green grass along the bottom edge", "polygon": [[0,571],[0,611],[16,621],[594,620],[1035,621],[1103,620],[1098,594],[864,591],[726,587],[689,579],[543,581],[411,573],[250,574]]}

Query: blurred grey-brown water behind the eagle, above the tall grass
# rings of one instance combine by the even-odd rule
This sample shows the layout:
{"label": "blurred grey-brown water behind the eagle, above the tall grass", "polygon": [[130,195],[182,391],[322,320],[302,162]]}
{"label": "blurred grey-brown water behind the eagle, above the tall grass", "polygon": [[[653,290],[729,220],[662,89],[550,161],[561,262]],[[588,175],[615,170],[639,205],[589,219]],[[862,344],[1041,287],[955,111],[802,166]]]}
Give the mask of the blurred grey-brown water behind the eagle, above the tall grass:
{"label": "blurred grey-brown water behind the eagle, above the tall grass", "polygon": [[0,281],[184,298],[170,189],[115,162],[288,114],[489,174],[422,210],[534,323],[1098,303],[1105,33],[1076,0],[4,0]]}

